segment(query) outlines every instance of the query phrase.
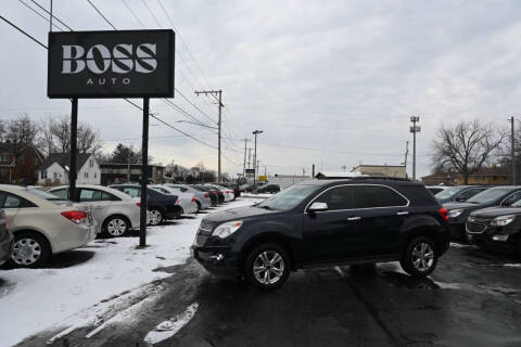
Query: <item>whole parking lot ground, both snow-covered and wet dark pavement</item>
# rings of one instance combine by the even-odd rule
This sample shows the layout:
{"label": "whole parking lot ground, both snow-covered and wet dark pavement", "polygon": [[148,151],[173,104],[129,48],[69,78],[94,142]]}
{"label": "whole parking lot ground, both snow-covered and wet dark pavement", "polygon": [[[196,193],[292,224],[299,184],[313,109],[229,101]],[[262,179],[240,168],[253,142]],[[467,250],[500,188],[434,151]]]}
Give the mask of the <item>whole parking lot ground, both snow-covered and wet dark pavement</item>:
{"label": "whole parking lot ground, both snow-covered and wet dark pavement", "polygon": [[453,243],[424,280],[397,264],[336,267],[301,270],[265,293],[217,280],[190,258],[204,215],[149,228],[145,249],[132,249],[131,234],[97,240],[46,269],[2,270],[1,335],[8,345],[26,338],[20,346],[521,344],[513,256]]}

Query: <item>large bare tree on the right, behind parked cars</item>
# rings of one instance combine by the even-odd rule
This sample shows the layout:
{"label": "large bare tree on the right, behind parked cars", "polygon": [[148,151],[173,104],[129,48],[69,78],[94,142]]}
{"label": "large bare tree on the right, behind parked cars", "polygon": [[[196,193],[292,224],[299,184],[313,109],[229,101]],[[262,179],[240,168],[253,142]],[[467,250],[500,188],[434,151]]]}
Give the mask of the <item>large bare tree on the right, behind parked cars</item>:
{"label": "large bare tree on the right, behind parked cars", "polygon": [[433,164],[436,168],[458,172],[467,184],[469,176],[487,163],[506,137],[504,129],[478,119],[460,121],[453,127],[442,126],[433,142]]}

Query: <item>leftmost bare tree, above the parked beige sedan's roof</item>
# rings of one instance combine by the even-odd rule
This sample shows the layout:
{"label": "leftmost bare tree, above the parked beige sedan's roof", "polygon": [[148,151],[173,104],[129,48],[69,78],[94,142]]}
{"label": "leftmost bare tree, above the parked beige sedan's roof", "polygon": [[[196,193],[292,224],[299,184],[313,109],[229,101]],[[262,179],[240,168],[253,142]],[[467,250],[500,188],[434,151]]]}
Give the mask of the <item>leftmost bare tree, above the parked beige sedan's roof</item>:
{"label": "leftmost bare tree, above the parked beige sedan's roof", "polygon": [[5,142],[11,145],[14,157],[14,180],[18,183],[18,162],[26,146],[34,144],[38,134],[38,126],[24,114],[5,124]]}

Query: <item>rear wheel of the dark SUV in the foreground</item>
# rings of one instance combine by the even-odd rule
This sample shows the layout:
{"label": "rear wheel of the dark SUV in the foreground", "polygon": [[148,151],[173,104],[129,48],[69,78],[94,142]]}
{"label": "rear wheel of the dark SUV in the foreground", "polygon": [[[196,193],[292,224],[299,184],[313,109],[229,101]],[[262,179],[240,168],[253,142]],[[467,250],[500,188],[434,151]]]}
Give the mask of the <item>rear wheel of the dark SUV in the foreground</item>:
{"label": "rear wheel of the dark SUV in the foreground", "polygon": [[434,242],[424,236],[412,239],[405,248],[399,264],[410,275],[422,278],[431,274],[437,265]]}

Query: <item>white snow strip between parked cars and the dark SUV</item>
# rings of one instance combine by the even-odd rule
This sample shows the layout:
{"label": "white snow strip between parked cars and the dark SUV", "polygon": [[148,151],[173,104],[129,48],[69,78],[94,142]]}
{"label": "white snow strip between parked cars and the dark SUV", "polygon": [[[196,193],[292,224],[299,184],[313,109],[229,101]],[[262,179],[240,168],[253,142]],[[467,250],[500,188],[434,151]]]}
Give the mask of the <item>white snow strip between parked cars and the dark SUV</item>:
{"label": "white snow strip between parked cars and the dark SUV", "polygon": [[[256,200],[238,200],[212,211],[247,206]],[[86,261],[64,268],[0,270],[0,336],[2,346],[16,344],[65,318],[113,296],[168,277],[152,270],[183,264],[190,257],[201,219],[191,215],[166,226],[150,227],[144,249],[138,237],[97,240],[61,258],[93,253]],[[3,282],[3,283],[2,283]]]}

